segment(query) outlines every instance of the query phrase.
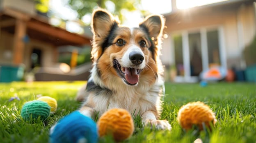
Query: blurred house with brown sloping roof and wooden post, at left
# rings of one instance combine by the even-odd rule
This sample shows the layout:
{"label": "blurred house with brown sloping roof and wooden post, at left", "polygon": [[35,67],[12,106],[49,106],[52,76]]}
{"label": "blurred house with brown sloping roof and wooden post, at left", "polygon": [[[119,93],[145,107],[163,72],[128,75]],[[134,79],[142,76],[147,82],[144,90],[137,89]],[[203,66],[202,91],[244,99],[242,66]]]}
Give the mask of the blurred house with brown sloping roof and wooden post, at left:
{"label": "blurred house with brown sloping roof and wooden post, at left", "polygon": [[90,39],[50,25],[34,0],[0,0],[0,66],[51,67],[58,47],[90,45]]}

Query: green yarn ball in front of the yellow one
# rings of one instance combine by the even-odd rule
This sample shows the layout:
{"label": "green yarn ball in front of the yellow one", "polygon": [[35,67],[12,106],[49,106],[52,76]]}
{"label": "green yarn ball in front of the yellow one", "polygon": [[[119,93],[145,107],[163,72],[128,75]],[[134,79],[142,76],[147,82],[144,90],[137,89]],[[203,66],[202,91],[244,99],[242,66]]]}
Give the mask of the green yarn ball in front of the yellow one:
{"label": "green yarn ball in front of the yellow one", "polygon": [[40,117],[41,121],[45,121],[50,115],[50,106],[39,100],[27,102],[21,109],[21,116],[25,121],[33,121]]}

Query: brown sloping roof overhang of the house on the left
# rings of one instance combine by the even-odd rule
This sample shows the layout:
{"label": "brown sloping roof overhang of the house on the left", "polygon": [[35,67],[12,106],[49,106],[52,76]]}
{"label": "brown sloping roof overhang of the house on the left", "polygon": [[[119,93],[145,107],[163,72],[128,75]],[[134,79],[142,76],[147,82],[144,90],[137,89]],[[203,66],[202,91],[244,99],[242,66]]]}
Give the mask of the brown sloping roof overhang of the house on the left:
{"label": "brown sloping roof overhang of the house on the left", "polygon": [[43,16],[30,16],[15,9],[5,8],[0,11],[0,28],[14,34],[17,20],[26,22],[26,33],[30,39],[48,42],[55,46],[90,45],[90,37],[71,33],[48,23]]}

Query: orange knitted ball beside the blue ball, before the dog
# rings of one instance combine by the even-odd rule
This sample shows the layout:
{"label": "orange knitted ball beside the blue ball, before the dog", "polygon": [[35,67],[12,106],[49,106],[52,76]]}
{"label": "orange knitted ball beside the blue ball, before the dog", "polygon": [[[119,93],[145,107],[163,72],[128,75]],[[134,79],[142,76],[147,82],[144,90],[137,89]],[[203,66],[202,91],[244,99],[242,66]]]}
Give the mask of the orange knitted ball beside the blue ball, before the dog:
{"label": "orange knitted ball beside the blue ball, before the dog", "polygon": [[128,139],[134,131],[133,118],[125,109],[114,108],[105,112],[98,120],[99,136],[110,134],[115,141]]}

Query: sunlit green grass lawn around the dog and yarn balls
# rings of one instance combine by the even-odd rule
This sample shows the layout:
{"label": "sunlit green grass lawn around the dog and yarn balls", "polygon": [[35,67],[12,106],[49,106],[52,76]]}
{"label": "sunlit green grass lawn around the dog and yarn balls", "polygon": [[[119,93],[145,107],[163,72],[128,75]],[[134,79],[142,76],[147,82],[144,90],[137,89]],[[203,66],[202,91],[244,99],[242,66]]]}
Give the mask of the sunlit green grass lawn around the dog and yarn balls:
{"label": "sunlit green grass lawn around the dog and yarn balls", "polygon": [[[84,82],[0,83],[0,142],[47,143],[49,129],[60,118],[78,109],[75,95]],[[135,116],[135,132],[128,143],[192,143],[200,137],[204,143],[256,143],[256,84],[212,83],[207,87],[199,84],[166,83],[162,119],[171,123],[171,131],[142,128]],[[58,109],[45,122],[29,123],[21,119],[21,107],[38,94],[51,96],[58,102]],[[9,102],[18,96],[21,100]],[[183,132],[176,120],[178,109],[192,101],[202,101],[216,113],[217,123],[212,132],[207,130]],[[114,142],[111,137],[99,142]]]}

